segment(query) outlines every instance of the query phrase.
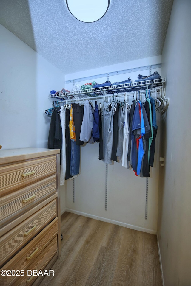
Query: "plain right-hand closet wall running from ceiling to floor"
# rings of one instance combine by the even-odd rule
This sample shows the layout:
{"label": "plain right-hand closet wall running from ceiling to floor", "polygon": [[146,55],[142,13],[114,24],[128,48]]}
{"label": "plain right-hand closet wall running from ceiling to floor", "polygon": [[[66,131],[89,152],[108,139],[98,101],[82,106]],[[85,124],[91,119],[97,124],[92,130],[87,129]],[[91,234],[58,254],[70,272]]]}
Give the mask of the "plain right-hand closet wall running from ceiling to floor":
{"label": "plain right-hand closet wall running from ceiling to floor", "polygon": [[170,105],[161,120],[158,242],[165,286],[191,285],[191,1],[174,0],[162,53]]}

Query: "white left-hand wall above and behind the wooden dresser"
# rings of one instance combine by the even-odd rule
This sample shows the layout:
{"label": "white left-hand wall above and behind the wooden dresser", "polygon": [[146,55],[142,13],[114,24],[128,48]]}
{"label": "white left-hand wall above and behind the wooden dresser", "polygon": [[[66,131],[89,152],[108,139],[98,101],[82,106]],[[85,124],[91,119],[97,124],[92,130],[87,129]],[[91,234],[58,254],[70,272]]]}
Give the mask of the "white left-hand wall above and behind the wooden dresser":
{"label": "white left-hand wall above and behind the wooden dresser", "polygon": [[0,145],[47,148],[50,118],[44,110],[52,106],[50,91],[63,88],[64,74],[2,25],[0,38]]}

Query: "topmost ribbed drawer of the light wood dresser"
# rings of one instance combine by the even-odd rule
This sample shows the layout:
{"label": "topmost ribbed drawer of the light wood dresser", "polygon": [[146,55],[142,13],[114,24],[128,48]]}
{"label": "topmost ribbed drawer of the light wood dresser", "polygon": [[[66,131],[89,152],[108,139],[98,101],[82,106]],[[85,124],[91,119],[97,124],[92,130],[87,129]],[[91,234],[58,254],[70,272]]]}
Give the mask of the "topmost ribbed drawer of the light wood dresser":
{"label": "topmost ribbed drawer of the light wood dresser", "polygon": [[56,174],[56,156],[10,164],[0,168],[0,196]]}

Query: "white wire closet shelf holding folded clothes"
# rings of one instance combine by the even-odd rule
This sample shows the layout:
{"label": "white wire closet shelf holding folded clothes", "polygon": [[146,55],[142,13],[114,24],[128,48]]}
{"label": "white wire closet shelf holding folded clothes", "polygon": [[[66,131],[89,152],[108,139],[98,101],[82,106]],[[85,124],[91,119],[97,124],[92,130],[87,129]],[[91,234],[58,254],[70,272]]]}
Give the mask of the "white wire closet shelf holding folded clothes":
{"label": "white wire closet shelf holding folded clothes", "polygon": [[150,92],[153,92],[158,88],[161,89],[165,82],[166,78],[160,78],[156,80],[144,80],[135,83],[123,83],[99,88],[50,94],[49,98],[52,100],[61,99],[74,102],[80,100],[97,100],[103,96],[112,97],[113,94],[118,94],[118,96],[123,96],[124,93],[127,93],[127,95],[132,95],[136,91],[140,91],[141,94],[145,94],[146,89],[150,89]]}

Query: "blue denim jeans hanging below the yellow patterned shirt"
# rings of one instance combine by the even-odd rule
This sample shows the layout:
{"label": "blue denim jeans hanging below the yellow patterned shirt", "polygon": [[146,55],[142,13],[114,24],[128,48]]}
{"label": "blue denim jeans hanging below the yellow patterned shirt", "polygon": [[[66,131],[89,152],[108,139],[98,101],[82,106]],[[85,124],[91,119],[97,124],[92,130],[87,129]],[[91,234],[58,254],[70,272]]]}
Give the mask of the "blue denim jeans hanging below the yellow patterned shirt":
{"label": "blue denim jeans hanging below the yellow patterned shirt", "polygon": [[76,141],[71,140],[71,161],[70,175],[75,176],[80,172],[80,146],[76,145]]}

